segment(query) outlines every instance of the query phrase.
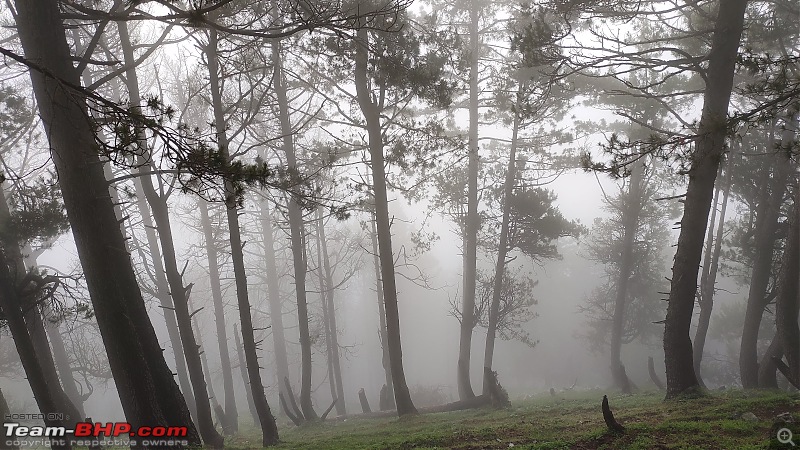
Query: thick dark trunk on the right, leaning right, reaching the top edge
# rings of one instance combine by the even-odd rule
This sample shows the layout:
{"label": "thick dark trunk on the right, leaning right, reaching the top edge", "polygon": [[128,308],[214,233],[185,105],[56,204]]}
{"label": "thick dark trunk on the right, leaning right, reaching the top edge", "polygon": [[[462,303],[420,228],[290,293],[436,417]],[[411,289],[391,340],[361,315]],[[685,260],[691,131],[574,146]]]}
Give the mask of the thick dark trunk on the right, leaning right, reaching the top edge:
{"label": "thick dark trunk on the right, leaning right, reaching the top edge", "polygon": [[711,43],[706,79],[713,81],[706,83],[703,95],[703,112],[691,156],[689,186],[664,322],[667,398],[699,386],[694,372],[689,328],[714,180],[725,149],[728,103],[747,0],[729,0],[724,6],[719,8]]}

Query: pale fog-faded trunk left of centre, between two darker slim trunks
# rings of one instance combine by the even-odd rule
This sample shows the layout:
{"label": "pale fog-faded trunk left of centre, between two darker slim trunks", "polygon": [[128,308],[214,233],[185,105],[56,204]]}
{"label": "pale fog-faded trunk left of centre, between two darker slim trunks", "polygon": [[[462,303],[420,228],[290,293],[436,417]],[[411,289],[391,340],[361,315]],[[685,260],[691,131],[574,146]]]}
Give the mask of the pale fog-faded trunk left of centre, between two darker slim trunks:
{"label": "pale fog-faded trunk left of centre, between two darker slim trunks", "polygon": [[[267,267],[267,290],[269,294],[269,317],[272,324],[272,343],[275,350],[275,368],[278,390],[284,398],[290,395],[284,380],[289,378],[289,358],[286,356],[286,334],[283,327],[283,306],[278,267],[275,262],[275,239],[273,237],[272,216],[267,200],[259,202],[261,209],[261,237],[264,242],[264,261]],[[294,394],[291,394],[294,396]]]}

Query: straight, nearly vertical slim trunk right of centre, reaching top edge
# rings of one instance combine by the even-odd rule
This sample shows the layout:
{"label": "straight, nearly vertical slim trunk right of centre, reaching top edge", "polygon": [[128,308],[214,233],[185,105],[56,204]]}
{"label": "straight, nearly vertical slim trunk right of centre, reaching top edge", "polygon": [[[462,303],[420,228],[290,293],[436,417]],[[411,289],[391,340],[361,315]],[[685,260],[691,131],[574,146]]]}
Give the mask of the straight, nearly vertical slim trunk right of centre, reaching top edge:
{"label": "straight, nearly vertical slim trunk right of centre, reaching top edge", "polygon": [[475,327],[475,285],[478,261],[478,5],[472,0],[469,8],[469,160],[467,163],[467,221],[464,239],[464,293],[461,305],[461,333],[458,347],[458,397],[466,400],[475,396],[470,381],[472,331]]}

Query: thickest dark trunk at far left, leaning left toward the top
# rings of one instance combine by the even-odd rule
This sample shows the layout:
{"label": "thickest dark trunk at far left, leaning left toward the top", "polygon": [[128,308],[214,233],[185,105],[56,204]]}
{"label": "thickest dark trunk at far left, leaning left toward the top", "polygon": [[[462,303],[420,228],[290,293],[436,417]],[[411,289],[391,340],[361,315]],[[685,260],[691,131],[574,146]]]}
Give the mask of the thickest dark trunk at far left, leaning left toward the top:
{"label": "thickest dark trunk at far left, leaning left toward the top", "polygon": [[[200,443],[147,316],[55,0],[17,1],[17,30],[120,400],[132,426],[186,426]],[[58,77],[58,80],[50,78]],[[70,89],[68,91],[68,89]]]}

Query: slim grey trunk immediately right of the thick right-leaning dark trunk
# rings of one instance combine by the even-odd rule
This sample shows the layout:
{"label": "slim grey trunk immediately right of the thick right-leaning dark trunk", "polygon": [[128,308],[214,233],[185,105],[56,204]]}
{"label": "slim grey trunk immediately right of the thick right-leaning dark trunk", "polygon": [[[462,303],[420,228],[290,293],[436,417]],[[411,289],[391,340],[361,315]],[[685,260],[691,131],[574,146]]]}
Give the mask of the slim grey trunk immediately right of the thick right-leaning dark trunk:
{"label": "slim grey trunk immediately right of the thick right-leaning dark trunk", "polygon": [[[700,278],[700,318],[697,322],[697,330],[694,337],[694,349],[692,354],[692,361],[694,366],[695,375],[698,381],[701,381],[700,365],[703,360],[703,350],[706,345],[706,336],[708,335],[708,326],[711,323],[711,311],[714,309],[714,291],[717,283],[717,272],[719,270],[719,257],[722,254],[722,232],[725,228],[725,213],[728,209],[728,198],[731,194],[731,178],[733,175],[733,159],[732,154],[728,154],[728,173],[722,188],[722,206],[719,211],[719,218],[717,219],[717,233],[714,239],[714,248],[711,249],[711,241],[713,233],[709,228],[708,247],[710,250],[706,252],[705,265],[703,267],[703,275]],[[714,219],[711,220],[711,226],[714,225]],[[706,270],[707,269],[707,270]]]}

